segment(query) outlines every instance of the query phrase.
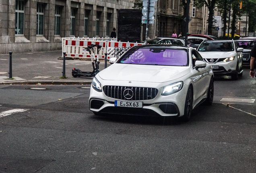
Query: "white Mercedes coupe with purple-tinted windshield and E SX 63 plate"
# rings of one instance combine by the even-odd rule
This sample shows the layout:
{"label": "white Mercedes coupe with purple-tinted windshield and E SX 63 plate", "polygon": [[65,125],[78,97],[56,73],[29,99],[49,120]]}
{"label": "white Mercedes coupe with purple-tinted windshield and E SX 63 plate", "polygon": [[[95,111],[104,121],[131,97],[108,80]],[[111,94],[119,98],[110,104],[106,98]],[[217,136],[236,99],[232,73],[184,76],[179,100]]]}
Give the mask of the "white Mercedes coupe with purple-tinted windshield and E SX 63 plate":
{"label": "white Mercedes coupe with purple-tinted windshield and E SX 63 plate", "polygon": [[211,65],[194,48],[134,46],[93,78],[89,109],[188,121],[200,103],[213,103],[213,81]]}

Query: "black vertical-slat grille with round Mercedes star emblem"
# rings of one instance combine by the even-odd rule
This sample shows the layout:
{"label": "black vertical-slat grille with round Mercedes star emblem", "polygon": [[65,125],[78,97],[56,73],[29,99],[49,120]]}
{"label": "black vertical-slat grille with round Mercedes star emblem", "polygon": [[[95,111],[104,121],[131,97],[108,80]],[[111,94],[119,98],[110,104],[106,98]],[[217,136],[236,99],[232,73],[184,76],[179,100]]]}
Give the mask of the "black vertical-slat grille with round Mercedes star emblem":
{"label": "black vertical-slat grille with round Mercedes star emblem", "polygon": [[[129,97],[125,97],[129,89]],[[126,90],[126,93],[124,91]],[[124,87],[124,86],[103,86],[103,91],[107,97],[120,100],[141,101],[154,99],[158,89],[146,87]],[[128,99],[127,99],[128,98]]]}

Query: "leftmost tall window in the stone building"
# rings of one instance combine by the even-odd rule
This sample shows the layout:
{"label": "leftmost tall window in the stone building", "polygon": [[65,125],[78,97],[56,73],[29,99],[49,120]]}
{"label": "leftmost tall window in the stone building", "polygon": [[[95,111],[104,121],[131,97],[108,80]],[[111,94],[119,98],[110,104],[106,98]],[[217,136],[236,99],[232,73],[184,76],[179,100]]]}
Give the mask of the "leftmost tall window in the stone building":
{"label": "leftmost tall window in the stone building", "polygon": [[15,34],[24,35],[24,1],[16,0]]}

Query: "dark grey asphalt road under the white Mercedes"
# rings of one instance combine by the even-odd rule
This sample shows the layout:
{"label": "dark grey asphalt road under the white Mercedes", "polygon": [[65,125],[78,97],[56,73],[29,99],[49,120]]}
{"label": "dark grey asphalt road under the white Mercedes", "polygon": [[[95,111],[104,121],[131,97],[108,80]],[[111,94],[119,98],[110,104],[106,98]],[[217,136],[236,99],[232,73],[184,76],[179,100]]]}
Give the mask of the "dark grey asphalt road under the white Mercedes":
{"label": "dark grey asphalt road under the white Mercedes", "polygon": [[[188,123],[95,116],[86,85],[0,85],[0,173],[255,173],[248,74],[215,78],[213,105]],[[13,109],[23,112],[3,113]]]}

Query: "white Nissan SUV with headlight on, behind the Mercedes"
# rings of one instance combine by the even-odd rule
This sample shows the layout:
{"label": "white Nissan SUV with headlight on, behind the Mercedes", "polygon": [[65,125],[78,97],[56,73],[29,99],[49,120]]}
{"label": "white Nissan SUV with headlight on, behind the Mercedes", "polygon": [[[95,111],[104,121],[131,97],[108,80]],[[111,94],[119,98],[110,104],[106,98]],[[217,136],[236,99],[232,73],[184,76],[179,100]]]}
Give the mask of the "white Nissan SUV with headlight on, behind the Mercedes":
{"label": "white Nissan SUV with headlight on, behind the Mercedes", "polygon": [[243,75],[243,50],[234,40],[204,41],[198,47],[204,60],[212,65],[215,75],[231,76],[234,80]]}

